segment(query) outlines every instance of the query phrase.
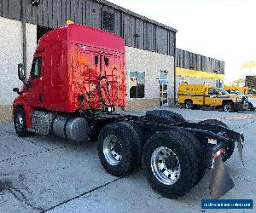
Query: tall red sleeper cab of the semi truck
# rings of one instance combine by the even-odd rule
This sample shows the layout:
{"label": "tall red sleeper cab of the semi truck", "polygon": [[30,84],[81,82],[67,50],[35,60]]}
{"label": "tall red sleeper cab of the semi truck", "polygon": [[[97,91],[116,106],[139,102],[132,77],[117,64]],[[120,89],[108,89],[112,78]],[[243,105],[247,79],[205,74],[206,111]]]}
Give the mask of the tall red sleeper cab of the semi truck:
{"label": "tall red sleeper cab of the semi truck", "polygon": [[124,41],[110,33],[102,40],[100,33],[69,25],[39,40],[24,88],[31,107],[58,112],[125,107]]}

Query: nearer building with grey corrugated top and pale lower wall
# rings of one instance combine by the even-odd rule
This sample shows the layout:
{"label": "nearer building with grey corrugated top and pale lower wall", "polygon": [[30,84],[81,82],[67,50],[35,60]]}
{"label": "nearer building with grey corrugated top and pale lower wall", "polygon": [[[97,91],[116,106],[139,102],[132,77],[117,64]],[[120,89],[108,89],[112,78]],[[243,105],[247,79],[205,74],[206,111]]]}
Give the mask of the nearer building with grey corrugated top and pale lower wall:
{"label": "nearer building with grey corrugated top and pale lower wall", "polygon": [[[175,102],[175,85],[183,77],[178,69],[176,73],[175,60],[181,69],[188,67],[179,56],[175,58],[177,31],[172,27],[105,0],[0,0],[0,121],[9,120],[15,98],[12,89],[21,86],[17,64],[26,65],[29,75],[38,39],[55,27],[65,26],[67,20],[124,38],[127,108]],[[183,50],[177,49],[178,55],[180,52]]]}

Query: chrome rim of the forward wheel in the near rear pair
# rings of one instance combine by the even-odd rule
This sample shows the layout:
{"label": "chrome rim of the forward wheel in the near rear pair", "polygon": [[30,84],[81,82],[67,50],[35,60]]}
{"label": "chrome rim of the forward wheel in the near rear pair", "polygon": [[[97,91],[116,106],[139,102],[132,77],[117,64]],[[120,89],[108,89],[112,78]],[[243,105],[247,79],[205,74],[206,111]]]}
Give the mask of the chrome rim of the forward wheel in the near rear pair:
{"label": "chrome rim of the forward wheel in the near rear pair", "polygon": [[122,159],[122,145],[115,135],[108,135],[103,141],[103,153],[108,164],[117,165]]}

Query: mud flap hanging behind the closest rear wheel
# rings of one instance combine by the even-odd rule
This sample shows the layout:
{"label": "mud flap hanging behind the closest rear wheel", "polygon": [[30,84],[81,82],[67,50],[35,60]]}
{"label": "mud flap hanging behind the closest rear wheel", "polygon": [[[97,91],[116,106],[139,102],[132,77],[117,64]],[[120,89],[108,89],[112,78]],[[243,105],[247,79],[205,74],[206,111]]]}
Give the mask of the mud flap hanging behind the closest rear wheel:
{"label": "mud flap hanging behind the closest rear wheel", "polygon": [[234,181],[227,173],[222,156],[218,153],[213,153],[212,174],[210,177],[210,193],[213,199],[218,199],[225,193],[229,192],[235,186]]}

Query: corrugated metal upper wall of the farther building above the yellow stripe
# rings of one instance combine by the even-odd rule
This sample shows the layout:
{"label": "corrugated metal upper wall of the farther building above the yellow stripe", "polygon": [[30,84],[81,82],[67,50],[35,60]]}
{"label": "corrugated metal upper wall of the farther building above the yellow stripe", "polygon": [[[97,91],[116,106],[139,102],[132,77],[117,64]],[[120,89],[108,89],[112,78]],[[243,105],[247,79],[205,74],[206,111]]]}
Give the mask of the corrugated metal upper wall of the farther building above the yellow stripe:
{"label": "corrugated metal upper wall of the farther building above the yellow stripe", "polygon": [[176,49],[176,67],[224,74],[225,62],[183,49]]}

